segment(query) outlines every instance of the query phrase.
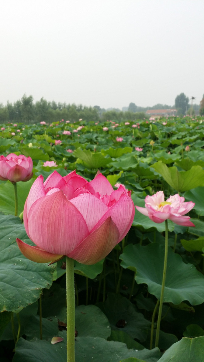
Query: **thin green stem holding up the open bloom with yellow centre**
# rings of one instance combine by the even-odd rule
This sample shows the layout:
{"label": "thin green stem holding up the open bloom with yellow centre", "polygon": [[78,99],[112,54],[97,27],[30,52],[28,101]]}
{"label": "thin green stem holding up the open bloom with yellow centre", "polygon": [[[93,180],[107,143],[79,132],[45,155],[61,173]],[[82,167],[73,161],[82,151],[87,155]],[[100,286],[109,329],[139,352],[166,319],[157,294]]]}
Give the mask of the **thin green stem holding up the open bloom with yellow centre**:
{"label": "thin green stem holding up the open bloom with yellow centre", "polygon": [[159,313],[158,313],[158,319],[157,319],[155,347],[158,347],[158,344],[159,344],[159,330],[160,330],[160,322],[161,322],[161,316],[162,316],[162,304],[163,304],[164,291],[165,291],[167,256],[168,256],[168,220],[165,220],[165,258],[164,258],[164,268],[163,268],[163,278],[162,278],[162,289],[161,289],[161,296],[160,296],[160,303],[159,303]]}

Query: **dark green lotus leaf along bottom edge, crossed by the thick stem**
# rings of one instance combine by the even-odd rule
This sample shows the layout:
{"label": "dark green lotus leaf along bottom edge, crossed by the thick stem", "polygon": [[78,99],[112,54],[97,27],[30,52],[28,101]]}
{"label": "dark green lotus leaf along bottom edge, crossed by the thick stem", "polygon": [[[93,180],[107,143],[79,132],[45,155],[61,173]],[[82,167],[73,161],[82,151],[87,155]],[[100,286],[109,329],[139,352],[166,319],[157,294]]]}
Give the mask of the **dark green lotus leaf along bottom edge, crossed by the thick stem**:
{"label": "dark green lotus leaf along bottom edge, crossed by the thick stem", "polygon": [[[64,336],[66,334],[64,333]],[[15,346],[13,362],[56,362],[67,361],[66,340],[52,345],[48,341],[26,341],[20,338]],[[158,348],[137,351],[128,349],[124,343],[106,341],[100,337],[77,337],[75,341],[76,362],[120,362],[121,359],[135,357],[145,362],[157,362]]]}

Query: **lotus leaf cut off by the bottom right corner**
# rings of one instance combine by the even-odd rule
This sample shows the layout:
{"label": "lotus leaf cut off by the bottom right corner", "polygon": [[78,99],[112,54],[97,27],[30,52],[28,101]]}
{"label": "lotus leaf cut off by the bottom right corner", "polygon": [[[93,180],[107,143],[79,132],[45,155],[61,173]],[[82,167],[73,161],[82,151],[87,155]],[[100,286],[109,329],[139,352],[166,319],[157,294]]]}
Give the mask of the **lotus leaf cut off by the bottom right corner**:
{"label": "lotus leaf cut off by the bottom right corner", "polygon": [[203,362],[203,346],[204,336],[184,337],[167,349],[158,362]]}

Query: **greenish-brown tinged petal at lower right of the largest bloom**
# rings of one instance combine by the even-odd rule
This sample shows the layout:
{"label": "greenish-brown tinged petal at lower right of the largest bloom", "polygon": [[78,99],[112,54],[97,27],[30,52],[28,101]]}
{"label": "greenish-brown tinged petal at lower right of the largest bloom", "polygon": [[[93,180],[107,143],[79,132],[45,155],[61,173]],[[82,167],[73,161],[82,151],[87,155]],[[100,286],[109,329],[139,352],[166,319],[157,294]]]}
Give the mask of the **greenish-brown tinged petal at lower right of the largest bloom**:
{"label": "greenish-brown tinged petal at lower right of the largest bloom", "polygon": [[105,258],[118,243],[119,231],[111,217],[93,231],[68,257],[82,264],[95,264]]}

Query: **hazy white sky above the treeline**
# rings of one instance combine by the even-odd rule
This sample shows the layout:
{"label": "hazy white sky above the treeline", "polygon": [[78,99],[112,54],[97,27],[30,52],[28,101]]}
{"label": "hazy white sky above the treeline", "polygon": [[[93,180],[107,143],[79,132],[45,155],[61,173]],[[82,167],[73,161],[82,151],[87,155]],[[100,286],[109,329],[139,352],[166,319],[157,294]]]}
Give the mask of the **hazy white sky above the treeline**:
{"label": "hazy white sky above the treeline", "polygon": [[0,0],[0,103],[199,104],[203,16],[203,0]]}

